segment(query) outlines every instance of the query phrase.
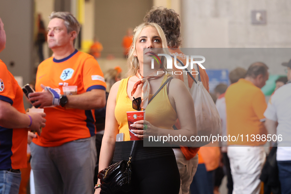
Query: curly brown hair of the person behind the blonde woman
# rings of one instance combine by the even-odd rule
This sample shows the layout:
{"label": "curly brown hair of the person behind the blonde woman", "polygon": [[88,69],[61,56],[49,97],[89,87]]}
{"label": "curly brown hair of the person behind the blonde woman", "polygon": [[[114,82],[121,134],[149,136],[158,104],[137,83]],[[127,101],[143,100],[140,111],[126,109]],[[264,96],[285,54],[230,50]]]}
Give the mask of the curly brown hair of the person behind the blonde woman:
{"label": "curly brown hair of the person behind the blonde woman", "polygon": [[177,48],[181,45],[180,18],[173,9],[164,7],[152,8],[144,17],[144,22],[157,23],[161,26],[168,47]]}

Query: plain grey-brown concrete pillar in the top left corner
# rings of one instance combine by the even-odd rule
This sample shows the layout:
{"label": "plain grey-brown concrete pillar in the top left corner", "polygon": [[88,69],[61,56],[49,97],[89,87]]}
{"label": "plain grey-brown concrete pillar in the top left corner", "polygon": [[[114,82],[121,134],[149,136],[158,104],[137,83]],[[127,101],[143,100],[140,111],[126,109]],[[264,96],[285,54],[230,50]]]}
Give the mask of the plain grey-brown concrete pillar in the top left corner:
{"label": "plain grey-brown concrete pillar in the top left corner", "polygon": [[0,17],[6,32],[6,48],[0,59],[14,76],[22,76],[23,84],[34,77],[33,0],[1,0]]}

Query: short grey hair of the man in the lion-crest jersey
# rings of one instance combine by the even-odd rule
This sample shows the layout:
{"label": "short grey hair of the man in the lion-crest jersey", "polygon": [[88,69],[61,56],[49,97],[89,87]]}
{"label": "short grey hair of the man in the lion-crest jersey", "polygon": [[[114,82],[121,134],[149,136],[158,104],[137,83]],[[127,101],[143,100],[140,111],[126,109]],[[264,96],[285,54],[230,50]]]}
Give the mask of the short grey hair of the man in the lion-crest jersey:
{"label": "short grey hair of the man in the lion-crest jersey", "polygon": [[[75,31],[77,32],[77,35],[80,32],[81,25],[78,22],[78,20],[69,12],[55,12],[53,11],[51,15],[49,16],[50,20],[54,18],[60,18],[65,21],[65,27],[67,32],[72,32]],[[76,38],[74,39],[74,44],[75,44]]]}

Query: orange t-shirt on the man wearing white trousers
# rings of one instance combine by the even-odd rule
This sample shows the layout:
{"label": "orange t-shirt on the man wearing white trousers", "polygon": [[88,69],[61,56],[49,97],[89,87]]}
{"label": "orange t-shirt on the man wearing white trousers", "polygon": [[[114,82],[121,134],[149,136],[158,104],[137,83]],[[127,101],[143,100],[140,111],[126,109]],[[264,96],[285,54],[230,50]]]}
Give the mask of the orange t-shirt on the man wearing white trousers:
{"label": "orange t-shirt on the man wearing white trousers", "polygon": [[[228,135],[237,136],[236,142],[228,141],[228,145],[259,146],[264,141],[251,141],[251,135],[266,134],[262,121],[267,103],[262,91],[251,81],[239,79],[226,90],[226,129]],[[243,134],[243,141],[240,135]],[[247,141],[246,135],[249,135]]]}

